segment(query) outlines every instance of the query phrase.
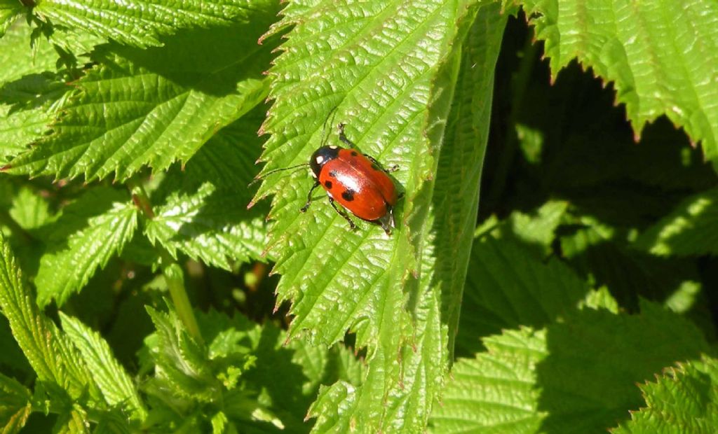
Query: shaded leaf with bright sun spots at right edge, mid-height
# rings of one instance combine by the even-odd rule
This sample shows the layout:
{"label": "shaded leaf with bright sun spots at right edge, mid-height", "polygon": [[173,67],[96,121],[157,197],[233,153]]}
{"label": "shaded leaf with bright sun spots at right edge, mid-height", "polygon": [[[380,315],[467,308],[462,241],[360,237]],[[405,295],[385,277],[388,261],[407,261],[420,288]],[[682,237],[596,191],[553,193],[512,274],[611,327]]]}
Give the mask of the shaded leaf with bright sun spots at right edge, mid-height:
{"label": "shaded leaf with bright sun spots at right edge, mid-height", "polygon": [[635,246],[659,256],[718,254],[718,189],[684,200],[645,230]]}

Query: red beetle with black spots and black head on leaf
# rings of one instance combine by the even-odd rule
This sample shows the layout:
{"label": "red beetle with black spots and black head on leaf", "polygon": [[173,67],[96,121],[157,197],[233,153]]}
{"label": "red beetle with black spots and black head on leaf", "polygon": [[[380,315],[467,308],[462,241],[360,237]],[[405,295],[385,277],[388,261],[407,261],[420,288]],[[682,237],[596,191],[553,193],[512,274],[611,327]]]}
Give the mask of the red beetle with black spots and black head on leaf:
{"label": "red beetle with black spots and black head on leaf", "polygon": [[[396,185],[388,174],[398,170],[398,166],[383,169],[372,156],[360,154],[355,149],[355,144],[347,138],[344,127],[344,123],[337,125],[339,139],[348,148],[335,145],[320,146],[312,154],[309,163],[274,169],[258,176],[255,180],[276,171],[308,165],[314,178],[314,185],[309,189],[307,203],[300,211],[307,212],[309,205],[312,204],[312,193],[321,186],[327,192],[332,208],[349,222],[351,230],[355,230],[356,225],[345,209],[361,220],[380,225],[386,235],[391,235],[391,230],[396,227],[393,210],[403,194],[397,192]],[[337,207],[337,202],[341,207]]]}

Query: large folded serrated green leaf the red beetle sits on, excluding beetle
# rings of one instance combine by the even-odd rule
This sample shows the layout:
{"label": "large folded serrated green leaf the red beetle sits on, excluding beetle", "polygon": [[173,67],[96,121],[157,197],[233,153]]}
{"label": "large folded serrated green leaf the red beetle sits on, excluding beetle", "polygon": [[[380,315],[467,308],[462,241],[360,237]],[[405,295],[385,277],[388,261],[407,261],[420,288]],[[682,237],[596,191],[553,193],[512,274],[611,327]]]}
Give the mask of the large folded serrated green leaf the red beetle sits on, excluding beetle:
{"label": "large folded serrated green leaf the red beetle sits on, excluding beetle", "polygon": [[[477,197],[483,147],[476,145],[488,136],[504,22],[490,2],[303,6],[294,3],[275,27],[297,23],[269,71],[267,168],[306,161],[325,123],[332,123],[329,143],[337,143],[333,123],[344,122],[361,151],[400,166],[405,199],[392,237],[364,224],[352,233],[330,207],[315,204],[297,217],[307,191],[289,187],[297,176],[266,181],[258,197],[276,193],[269,242],[283,275],[279,301],[292,299],[290,335],[307,330],[310,341],[333,344],[349,330],[367,347],[363,386],[337,383],[312,406],[318,432],[353,425],[414,432],[426,425],[458,322],[466,235],[477,212],[475,201],[461,199]],[[364,49],[377,34],[383,42]],[[297,105],[312,115],[298,118]],[[467,190],[456,191],[463,181]]]}

